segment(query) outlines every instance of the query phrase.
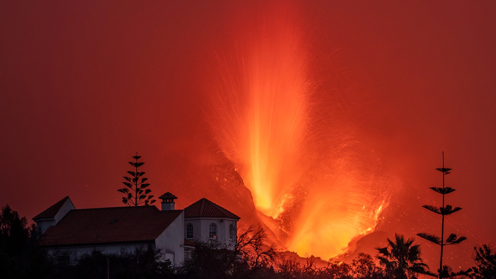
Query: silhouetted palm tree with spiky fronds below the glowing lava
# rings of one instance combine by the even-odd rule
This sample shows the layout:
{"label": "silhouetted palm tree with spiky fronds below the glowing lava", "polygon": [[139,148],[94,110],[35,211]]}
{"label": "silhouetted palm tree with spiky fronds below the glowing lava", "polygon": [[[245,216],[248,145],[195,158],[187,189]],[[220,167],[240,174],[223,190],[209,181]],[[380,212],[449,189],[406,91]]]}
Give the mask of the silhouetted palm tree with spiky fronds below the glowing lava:
{"label": "silhouetted palm tree with spiky fronds below the glowing lava", "polygon": [[420,258],[420,245],[414,244],[415,238],[405,240],[403,235],[394,235],[394,241],[387,239],[384,248],[376,247],[379,265],[394,279],[417,279],[429,267]]}

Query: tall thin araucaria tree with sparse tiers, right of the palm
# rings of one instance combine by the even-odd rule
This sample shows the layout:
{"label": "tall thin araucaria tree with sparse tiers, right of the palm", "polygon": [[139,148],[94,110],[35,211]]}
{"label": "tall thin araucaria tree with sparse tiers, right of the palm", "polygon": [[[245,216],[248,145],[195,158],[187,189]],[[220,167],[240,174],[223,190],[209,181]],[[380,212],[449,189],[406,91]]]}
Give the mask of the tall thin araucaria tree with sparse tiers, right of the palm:
{"label": "tall thin araucaria tree with sparse tiers, right of the palm", "polygon": [[444,176],[449,174],[450,168],[445,168],[444,167],[444,152],[442,152],[442,168],[437,168],[436,170],[442,172],[442,188],[441,187],[430,187],[429,189],[434,190],[435,192],[439,193],[442,195],[442,207],[438,208],[436,206],[422,206],[425,209],[431,210],[436,214],[441,215],[441,236],[437,236],[434,234],[430,233],[418,233],[417,235],[431,241],[434,244],[437,244],[441,247],[441,255],[440,255],[440,260],[439,260],[439,269],[437,270],[437,273],[428,273],[431,276],[434,276],[436,278],[450,278],[458,275],[465,275],[467,274],[468,271],[459,271],[459,272],[453,272],[453,269],[447,265],[442,265],[442,252],[444,246],[447,245],[456,245],[459,244],[460,242],[464,241],[467,239],[465,236],[456,236],[456,234],[451,233],[448,235],[448,237],[444,238],[444,216],[450,215],[461,208],[455,207],[453,208],[450,205],[444,205],[444,195],[449,194],[455,189],[451,187],[445,187],[444,186]]}

